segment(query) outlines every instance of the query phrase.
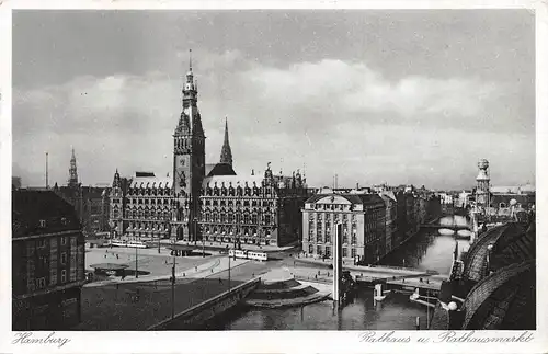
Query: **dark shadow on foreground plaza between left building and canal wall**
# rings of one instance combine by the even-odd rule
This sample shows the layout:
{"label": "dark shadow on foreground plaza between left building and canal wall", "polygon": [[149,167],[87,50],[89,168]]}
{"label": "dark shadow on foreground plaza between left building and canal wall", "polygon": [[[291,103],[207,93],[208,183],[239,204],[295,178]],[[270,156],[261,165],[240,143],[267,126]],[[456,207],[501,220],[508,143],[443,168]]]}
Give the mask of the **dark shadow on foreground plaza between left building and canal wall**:
{"label": "dark shadow on foreground plaza between left building and canal wall", "polygon": [[[230,287],[242,284],[230,282]],[[142,331],[229,289],[221,275],[208,278],[178,278],[175,301],[170,281],[111,284],[82,288],[82,321],[77,331]]]}

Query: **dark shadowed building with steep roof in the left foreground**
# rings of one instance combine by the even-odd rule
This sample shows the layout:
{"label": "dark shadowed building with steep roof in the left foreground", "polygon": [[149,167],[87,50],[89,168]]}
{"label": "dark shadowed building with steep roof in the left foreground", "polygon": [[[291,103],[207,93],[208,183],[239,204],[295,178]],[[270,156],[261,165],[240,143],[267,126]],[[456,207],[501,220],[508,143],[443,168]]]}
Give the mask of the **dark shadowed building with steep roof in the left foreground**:
{"label": "dark shadowed building with steep roof in the left foreground", "polygon": [[12,326],[62,330],[80,321],[84,237],[53,191],[12,192]]}

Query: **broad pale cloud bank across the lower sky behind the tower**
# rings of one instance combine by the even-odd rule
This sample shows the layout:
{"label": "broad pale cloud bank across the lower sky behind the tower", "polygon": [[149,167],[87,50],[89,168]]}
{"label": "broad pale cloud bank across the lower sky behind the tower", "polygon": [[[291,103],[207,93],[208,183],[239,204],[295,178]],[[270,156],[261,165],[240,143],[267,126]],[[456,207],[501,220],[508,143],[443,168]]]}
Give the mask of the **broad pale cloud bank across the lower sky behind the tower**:
{"label": "broad pale cloud bank across the lower sky behind the tower", "polygon": [[[194,67],[208,137],[206,160],[218,160],[228,116],[236,168],[243,173],[269,161],[284,171],[306,162],[312,184],[329,183],[335,171],[351,185],[353,179],[461,184],[460,174],[444,170],[447,164],[459,161],[459,168],[473,170],[484,141],[510,136],[490,133],[492,121],[484,118],[509,94],[498,82],[421,76],[388,80],[364,62],[335,59],[274,67],[238,50],[196,55],[202,58]],[[13,160],[28,172],[23,179],[41,183],[36,176],[47,150],[58,161],[52,164],[52,180],[65,181],[70,145],[84,183],[110,182],[115,168],[125,174],[138,169],[167,173],[182,80],[180,73],[150,71],[81,76],[14,90]],[[516,151],[534,156],[530,139],[517,141]],[[494,146],[500,153],[507,151],[507,145]],[[529,175],[530,168],[523,164],[522,172]],[[473,183],[469,176],[466,181]]]}

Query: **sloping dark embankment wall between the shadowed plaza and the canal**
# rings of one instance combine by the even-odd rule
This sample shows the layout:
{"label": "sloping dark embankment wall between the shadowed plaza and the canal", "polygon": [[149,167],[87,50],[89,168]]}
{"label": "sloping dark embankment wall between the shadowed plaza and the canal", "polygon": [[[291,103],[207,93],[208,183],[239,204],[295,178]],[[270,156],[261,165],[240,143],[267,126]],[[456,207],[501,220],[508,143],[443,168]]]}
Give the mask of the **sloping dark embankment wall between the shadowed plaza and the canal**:
{"label": "sloping dark embankment wall between the shadowed plaza and the canal", "polygon": [[169,318],[149,327],[148,330],[191,330],[198,328],[199,326],[212,320],[214,317],[238,305],[243,298],[253,292],[259,284],[261,284],[261,278],[254,278],[235,286],[230,290],[221,293],[180,313],[175,313],[173,318]]}

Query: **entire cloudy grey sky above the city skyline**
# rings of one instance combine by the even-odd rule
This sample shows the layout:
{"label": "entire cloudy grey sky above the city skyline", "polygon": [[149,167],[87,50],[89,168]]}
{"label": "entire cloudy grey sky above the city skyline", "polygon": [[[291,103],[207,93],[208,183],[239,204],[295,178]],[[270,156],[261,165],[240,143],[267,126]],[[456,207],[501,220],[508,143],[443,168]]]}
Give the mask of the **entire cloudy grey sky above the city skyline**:
{"label": "entire cloudy grey sky above the city skyline", "polygon": [[309,184],[535,181],[535,35],[525,10],[15,11],[13,174],[168,173],[193,49],[206,160]]}

